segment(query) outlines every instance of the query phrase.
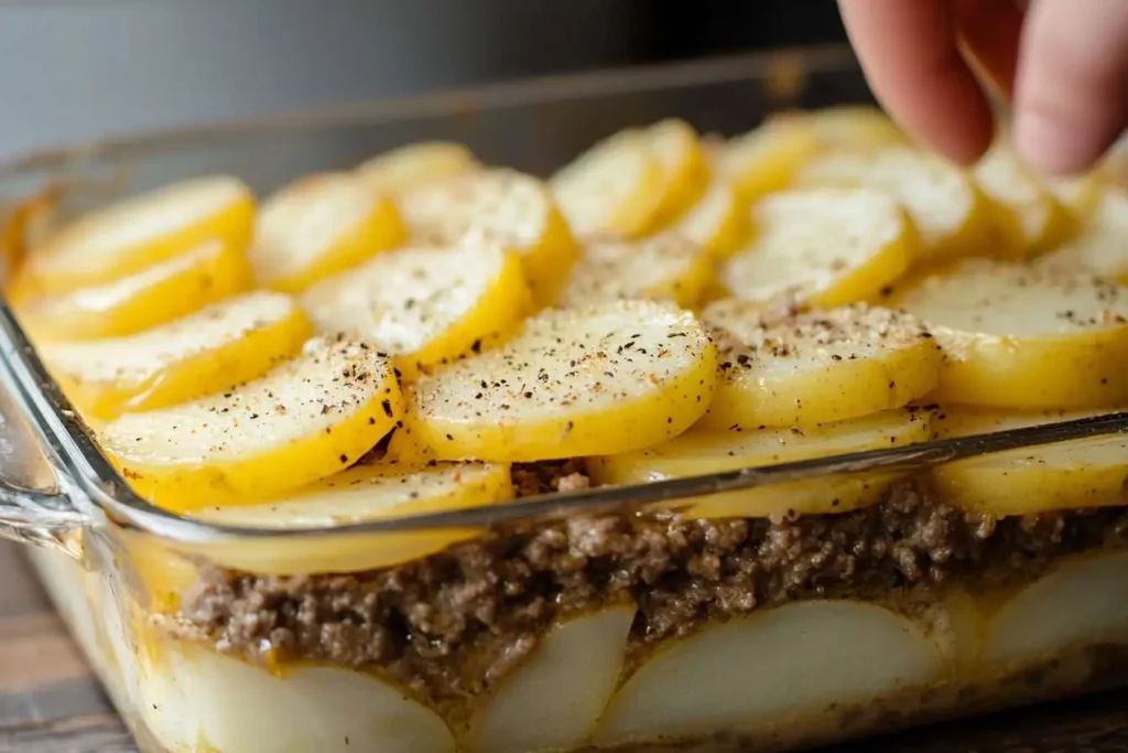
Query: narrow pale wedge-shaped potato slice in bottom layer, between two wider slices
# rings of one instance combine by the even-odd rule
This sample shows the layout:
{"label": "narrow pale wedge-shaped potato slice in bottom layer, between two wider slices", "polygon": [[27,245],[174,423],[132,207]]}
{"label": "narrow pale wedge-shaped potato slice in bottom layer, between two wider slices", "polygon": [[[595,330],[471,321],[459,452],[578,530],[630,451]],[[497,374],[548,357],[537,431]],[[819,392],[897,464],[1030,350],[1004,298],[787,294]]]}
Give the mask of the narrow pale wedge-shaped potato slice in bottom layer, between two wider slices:
{"label": "narrow pale wedge-shaped potato slice in bottom layer, between two wider slices", "polygon": [[618,684],[635,607],[555,627],[470,721],[475,753],[571,751],[591,736]]}

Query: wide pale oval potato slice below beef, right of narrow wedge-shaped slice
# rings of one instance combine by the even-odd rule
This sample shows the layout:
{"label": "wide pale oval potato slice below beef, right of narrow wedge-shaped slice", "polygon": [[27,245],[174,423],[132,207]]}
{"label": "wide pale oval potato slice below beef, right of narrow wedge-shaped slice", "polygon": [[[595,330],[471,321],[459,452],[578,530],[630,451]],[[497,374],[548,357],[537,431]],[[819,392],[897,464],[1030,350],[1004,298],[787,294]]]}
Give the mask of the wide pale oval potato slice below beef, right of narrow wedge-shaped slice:
{"label": "wide pale oval potato slice below beef, right of narrow wedge-shaped slice", "polygon": [[800,602],[712,625],[660,649],[611,699],[599,745],[756,733],[945,678],[909,620],[873,604]]}

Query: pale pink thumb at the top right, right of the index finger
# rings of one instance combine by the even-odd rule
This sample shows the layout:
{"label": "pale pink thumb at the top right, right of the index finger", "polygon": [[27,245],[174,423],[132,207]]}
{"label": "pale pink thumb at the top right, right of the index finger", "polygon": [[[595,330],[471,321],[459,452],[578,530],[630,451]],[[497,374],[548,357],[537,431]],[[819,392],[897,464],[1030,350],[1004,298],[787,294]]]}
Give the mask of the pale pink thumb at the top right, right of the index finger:
{"label": "pale pink thumb at the top right, right of the index finger", "polygon": [[1033,0],[1014,94],[1014,139],[1049,174],[1090,166],[1128,125],[1128,1]]}

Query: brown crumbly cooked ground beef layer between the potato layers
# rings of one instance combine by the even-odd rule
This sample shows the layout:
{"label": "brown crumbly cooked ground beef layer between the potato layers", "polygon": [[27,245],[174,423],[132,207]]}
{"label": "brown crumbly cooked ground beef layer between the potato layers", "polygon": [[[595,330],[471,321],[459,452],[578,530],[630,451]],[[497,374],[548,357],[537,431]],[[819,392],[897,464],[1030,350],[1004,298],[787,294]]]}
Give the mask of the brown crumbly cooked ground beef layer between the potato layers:
{"label": "brown crumbly cooked ground beef layer between the potato layers", "polygon": [[[522,493],[587,485],[573,464],[515,470]],[[220,650],[369,666],[435,703],[481,692],[562,614],[638,605],[632,650],[711,619],[838,592],[884,596],[967,573],[1030,577],[1060,554],[1128,544],[1128,508],[995,520],[902,483],[873,507],[794,520],[646,514],[495,531],[349,576],[202,575],[171,621]]]}

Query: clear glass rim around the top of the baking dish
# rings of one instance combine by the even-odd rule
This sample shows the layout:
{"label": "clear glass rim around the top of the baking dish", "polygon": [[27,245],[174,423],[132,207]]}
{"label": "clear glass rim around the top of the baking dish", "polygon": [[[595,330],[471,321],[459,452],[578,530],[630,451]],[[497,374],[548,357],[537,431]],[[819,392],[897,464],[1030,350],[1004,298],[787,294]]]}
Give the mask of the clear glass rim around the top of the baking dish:
{"label": "clear glass rim around the top of the baking dish", "polygon": [[[332,126],[457,115],[616,93],[689,88],[725,81],[764,82],[774,75],[811,76],[856,69],[848,47],[776,51],[703,61],[590,73],[553,76],[438,94],[413,95],[331,110],[268,115],[240,121],[148,132],[36,151],[0,163],[0,181],[65,170],[96,160],[143,157],[177,145],[245,138],[265,131],[319,130]],[[29,418],[46,440],[68,480],[114,524],[162,539],[193,544],[261,539],[371,535],[440,528],[487,528],[576,514],[624,511],[694,497],[761,488],[828,475],[866,471],[913,471],[1007,449],[1128,432],[1128,412],[933,440],[631,487],[602,487],[529,497],[503,505],[386,517],[341,526],[262,528],[217,525],[161,509],[135,494],[102,453],[91,432],[47,374],[7,303],[0,304],[0,364],[16,385]]]}

